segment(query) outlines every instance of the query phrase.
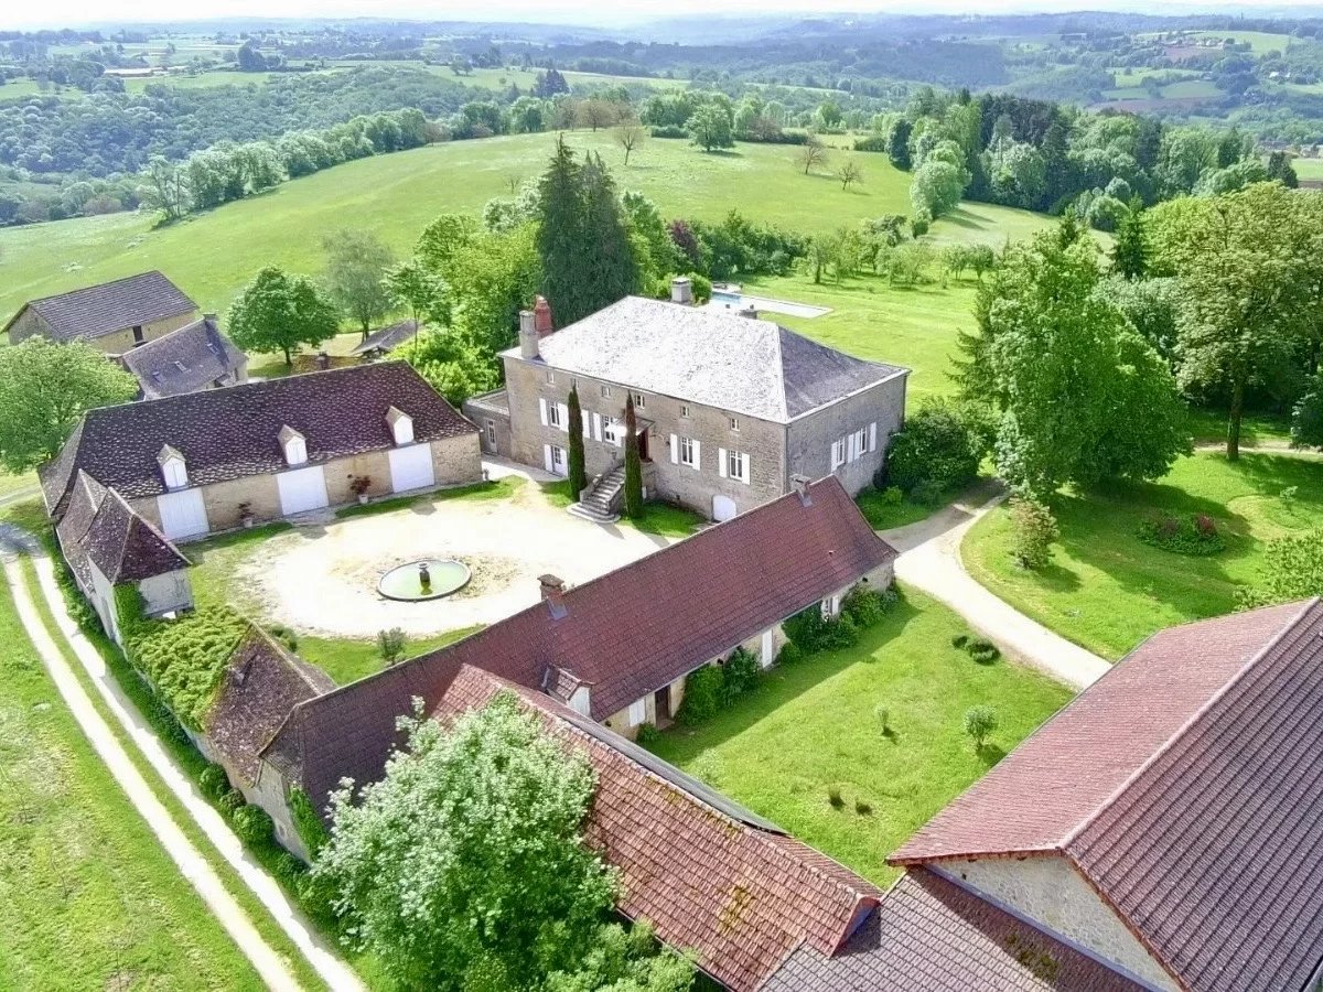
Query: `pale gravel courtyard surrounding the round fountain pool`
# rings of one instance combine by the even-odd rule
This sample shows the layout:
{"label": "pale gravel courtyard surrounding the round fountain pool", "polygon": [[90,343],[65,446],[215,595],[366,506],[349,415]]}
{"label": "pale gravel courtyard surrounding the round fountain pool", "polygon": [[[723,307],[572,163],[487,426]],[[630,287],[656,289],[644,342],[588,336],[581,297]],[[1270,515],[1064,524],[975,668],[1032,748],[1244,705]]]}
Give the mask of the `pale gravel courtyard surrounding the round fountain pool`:
{"label": "pale gravel courtyard surrounding the round fountain pool", "polygon": [[[579,520],[552,505],[529,477],[542,474],[488,468],[492,477],[515,475],[523,484],[505,499],[423,499],[377,516],[299,525],[254,545],[233,574],[238,604],[314,636],[373,638],[389,627],[435,635],[537,602],[538,575],[579,585],[675,540]],[[456,558],[472,579],[425,603],[377,593],[386,569],[426,557]]]}

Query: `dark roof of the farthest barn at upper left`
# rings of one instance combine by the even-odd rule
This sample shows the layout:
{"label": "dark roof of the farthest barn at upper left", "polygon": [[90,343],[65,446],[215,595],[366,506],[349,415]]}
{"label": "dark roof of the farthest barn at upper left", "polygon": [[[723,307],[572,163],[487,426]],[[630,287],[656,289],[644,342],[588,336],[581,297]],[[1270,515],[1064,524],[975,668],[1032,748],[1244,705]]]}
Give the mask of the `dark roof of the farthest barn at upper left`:
{"label": "dark roof of the farthest barn at upper left", "polygon": [[[50,336],[57,341],[102,337],[197,310],[197,304],[183,290],[157,271],[45,296],[30,300],[26,307],[45,319],[50,325]],[[26,307],[9,319],[5,331]]]}

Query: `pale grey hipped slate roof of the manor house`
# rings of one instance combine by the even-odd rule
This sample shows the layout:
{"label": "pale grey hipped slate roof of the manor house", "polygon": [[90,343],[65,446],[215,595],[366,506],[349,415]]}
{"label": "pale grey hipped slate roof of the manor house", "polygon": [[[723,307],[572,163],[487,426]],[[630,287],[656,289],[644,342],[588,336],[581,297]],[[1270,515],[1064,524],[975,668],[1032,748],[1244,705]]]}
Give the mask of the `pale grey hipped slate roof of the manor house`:
{"label": "pale grey hipped slate roof of the manor house", "polygon": [[[556,369],[786,423],[888,378],[770,320],[626,296],[538,340]],[[512,348],[503,354],[519,357]]]}

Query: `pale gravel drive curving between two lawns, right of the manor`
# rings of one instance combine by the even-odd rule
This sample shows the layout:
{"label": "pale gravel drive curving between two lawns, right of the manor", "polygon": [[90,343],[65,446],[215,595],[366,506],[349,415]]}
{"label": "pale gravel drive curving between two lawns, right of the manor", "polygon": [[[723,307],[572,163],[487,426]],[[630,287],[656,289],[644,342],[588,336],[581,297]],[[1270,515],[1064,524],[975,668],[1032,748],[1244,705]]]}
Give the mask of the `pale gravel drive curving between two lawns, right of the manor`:
{"label": "pale gravel drive curving between two lawns, right of the manor", "polygon": [[901,553],[896,577],[942,600],[979,634],[1027,664],[1077,689],[1091,685],[1111,668],[1107,661],[1031,620],[964,570],[960,541],[984,513],[1005,499],[1003,492],[979,505],[978,496],[986,492],[975,489],[971,503],[957,500],[916,524],[880,532]]}

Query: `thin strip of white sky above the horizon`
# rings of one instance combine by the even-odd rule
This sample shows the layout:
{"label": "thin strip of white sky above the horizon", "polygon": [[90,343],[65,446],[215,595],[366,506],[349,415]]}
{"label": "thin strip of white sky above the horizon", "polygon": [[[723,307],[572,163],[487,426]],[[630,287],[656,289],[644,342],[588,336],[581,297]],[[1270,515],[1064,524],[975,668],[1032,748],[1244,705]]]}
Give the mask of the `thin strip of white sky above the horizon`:
{"label": "thin strip of white sky above the horizon", "polygon": [[208,17],[398,17],[421,20],[525,20],[574,24],[627,24],[684,15],[757,15],[769,12],[1009,13],[1020,11],[1126,9],[1176,13],[1188,11],[1281,11],[1319,0],[1203,0],[1154,8],[1146,0],[4,0],[0,29],[81,26],[107,21],[181,21]]}

